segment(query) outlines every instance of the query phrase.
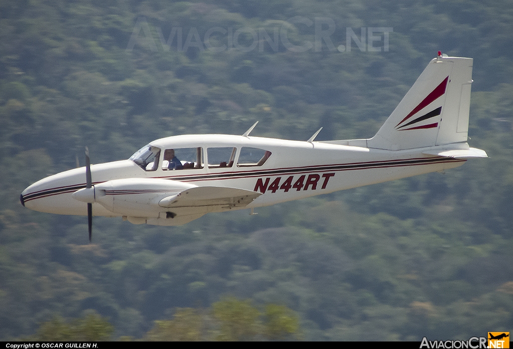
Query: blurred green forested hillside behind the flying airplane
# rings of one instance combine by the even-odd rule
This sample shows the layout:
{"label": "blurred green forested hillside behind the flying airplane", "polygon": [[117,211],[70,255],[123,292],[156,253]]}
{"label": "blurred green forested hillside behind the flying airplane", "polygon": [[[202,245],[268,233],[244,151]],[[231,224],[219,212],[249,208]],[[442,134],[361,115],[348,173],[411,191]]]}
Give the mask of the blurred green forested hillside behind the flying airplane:
{"label": "blurred green forested hillside behind the flying airplane", "polygon": [[[294,45],[312,41],[315,25],[286,22],[294,16],[333,20],[335,47],[346,45],[346,28],[393,28],[389,50],[295,53],[262,42],[183,52],[161,41],[173,28],[194,42],[194,30],[284,26]],[[127,50],[144,23],[149,33]],[[509,0],[3,0],[0,338],[51,321],[65,328],[63,317],[108,321],[101,336],[112,339],[148,338],[155,320],[193,321],[194,309],[227,295],[267,312],[258,326],[269,338],[279,338],[270,323],[287,326],[272,319],[284,309],[309,340],[510,331],[512,32]],[[215,47],[227,40],[211,36]],[[371,137],[438,50],[474,58],[470,143],[490,159],[256,216],[209,214],[182,227],[95,219],[91,245],[84,217],[19,204],[31,183],[83,165],[85,145],[100,163],[156,138],[242,134],[257,120],[255,136],[306,140],[324,126],[318,140]]]}

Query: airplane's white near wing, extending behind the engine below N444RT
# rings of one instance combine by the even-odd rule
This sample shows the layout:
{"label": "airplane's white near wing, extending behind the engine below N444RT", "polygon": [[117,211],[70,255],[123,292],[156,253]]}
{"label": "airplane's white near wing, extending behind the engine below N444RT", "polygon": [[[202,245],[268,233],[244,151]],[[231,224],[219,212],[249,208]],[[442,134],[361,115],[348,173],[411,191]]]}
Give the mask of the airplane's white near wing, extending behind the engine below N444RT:
{"label": "airplane's white near wing, extending behind the engine below N444RT", "polygon": [[159,202],[161,207],[228,206],[244,207],[261,193],[227,187],[195,187],[171,195]]}

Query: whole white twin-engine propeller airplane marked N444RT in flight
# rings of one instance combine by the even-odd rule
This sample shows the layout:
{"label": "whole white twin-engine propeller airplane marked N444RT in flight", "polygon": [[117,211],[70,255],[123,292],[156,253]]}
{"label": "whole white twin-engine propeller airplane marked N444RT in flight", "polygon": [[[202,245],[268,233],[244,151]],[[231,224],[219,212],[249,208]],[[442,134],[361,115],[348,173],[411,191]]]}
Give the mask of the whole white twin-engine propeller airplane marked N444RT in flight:
{"label": "whole white twin-engine propeller airplane marked N444RT in flight", "polygon": [[[208,212],[253,209],[458,167],[467,144],[472,59],[439,52],[378,133],[314,142],[242,136],[162,138],[130,159],[54,174],[21,194],[32,210],[175,226]],[[87,203],[87,210],[86,205]]]}

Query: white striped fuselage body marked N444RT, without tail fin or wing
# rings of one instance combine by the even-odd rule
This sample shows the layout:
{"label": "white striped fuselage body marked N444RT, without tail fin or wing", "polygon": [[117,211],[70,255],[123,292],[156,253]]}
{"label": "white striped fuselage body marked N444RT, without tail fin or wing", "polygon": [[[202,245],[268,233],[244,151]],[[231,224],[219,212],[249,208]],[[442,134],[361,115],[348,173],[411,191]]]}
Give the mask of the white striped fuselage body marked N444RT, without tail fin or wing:
{"label": "white striped fuselage body marked N444RT, without tail fin or wing", "polygon": [[[349,141],[355,143],[355,141]],[[350,144],[347,142],[348,144]],[[336,144],[334,144],[336,143]],[[214,206],[208,212],[255,208],[298,200],[374,183],[386,182],[417,174],[457,167],[465,160],[422,154],[422,148],[382,150],[339,142],[301,142],[234,135],[195,135],[163,138],[150,143],[158,149],[154,168],[143,168],[132,160],[91,165],[93,185],[123,179],[160,179],[194,186],[241,188],[261,193],[244,207]],[[360,140],[359,145],[365,145]],[[165,149],[198,149],[203,164],[197,168],[169,170],[163,167]],[[270,152],[261,165],[242,163],[244,149]],[[432,148],[432,147],[431,147]],[[212,149],[233,149],[231,166],[221,167],[208,157]],[[229,152],[229,151],[228,151]],[[227,159],[229,160],[229,159]],[[72,198],[72,193],[85,188],[85,167],[55,174],[28,187],[22,202],[36,211],[86,215],[85,205]],[[182,188],[180,188],[182,189]],[[131,200],[142,201],[145,192],[132,191]],[[95,216],[159,217],[165,212],[155,206],[141,211],[116,212],[94,203]]]}

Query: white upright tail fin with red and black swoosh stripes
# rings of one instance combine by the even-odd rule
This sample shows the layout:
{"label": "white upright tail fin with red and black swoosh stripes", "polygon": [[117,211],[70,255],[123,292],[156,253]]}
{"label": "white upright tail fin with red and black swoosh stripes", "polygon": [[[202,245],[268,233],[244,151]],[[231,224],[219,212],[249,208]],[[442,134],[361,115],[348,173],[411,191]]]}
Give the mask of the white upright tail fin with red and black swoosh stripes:
{"label": "white upright tail fin with red and black swoosh stripes", "polygon": [[466,142],[471,83],[472,58],[431,60],[367,146],[400,150]]}

